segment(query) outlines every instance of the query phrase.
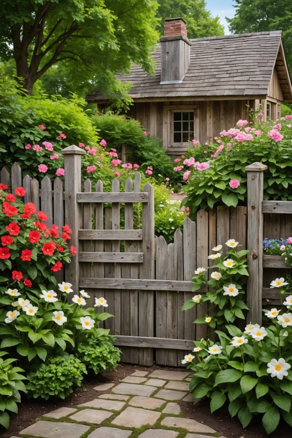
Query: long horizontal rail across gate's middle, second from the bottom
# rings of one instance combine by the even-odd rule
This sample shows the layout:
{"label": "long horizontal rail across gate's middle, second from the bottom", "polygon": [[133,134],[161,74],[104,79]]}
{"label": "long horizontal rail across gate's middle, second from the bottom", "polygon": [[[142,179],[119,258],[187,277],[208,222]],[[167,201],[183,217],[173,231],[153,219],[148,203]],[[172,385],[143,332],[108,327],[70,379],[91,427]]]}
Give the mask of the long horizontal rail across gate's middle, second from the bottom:
{"label": "long horizontal rail across gate's middle, second from the bottom", "polygon": [[[85,286],[85,283],[87,286]],[[112,278],[81,278],[81,287],[95,287],[103,289],[137,289],[137,290],[173,290],[176,293],[181,291],[191,292],[193,283],[191,281],[178,280],[151,280],[151,279],[112,279]],[[165,320],[164,320],[165,322]]]}

